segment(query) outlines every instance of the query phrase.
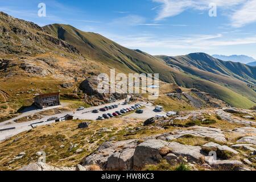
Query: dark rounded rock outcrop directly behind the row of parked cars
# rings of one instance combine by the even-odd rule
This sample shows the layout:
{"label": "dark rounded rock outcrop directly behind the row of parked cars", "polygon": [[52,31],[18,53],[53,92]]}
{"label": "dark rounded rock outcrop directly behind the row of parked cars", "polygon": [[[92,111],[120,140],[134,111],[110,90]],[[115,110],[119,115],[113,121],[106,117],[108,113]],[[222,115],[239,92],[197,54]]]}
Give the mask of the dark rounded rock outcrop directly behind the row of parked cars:
{"label": "dark rounded rock outcrop directly behind the row of parked cars", "polygon": [[90,105],[101,105],[127,98],[127,94],[123,93],[110,94],[108,91],[106,93],[100,93],[98,91],[98,84],[97,76],[89,77],[81,82],[80,89],[85,93],[84,100],[86,103]]}

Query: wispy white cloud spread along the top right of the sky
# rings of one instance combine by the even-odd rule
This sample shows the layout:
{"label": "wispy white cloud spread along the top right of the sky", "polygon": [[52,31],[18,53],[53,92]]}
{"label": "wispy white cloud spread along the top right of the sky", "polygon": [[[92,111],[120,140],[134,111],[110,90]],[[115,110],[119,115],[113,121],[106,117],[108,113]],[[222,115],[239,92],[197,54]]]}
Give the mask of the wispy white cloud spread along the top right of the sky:
{"label": "wispy white cloud spread along the top right of the sky", "polygon": [[256,22],[256,0],[152,0],[161,3],[155,20],[176,16],[187,9],[209,10],[209,3],[216,3],[217,8],[225,10],[233,27],[242,27]]}

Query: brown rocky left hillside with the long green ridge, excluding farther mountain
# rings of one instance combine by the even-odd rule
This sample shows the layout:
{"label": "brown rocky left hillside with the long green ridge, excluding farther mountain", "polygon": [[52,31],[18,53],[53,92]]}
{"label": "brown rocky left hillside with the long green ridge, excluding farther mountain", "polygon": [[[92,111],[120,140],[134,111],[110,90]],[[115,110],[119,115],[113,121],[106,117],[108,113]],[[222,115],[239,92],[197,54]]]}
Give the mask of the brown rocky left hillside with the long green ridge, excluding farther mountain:
{"label": "brown rocky left hillside with the long green ridge, excluding farther mountain", "polygon": [[[230,105],[254,106],[250,100],[255,94],[248,90],[240,92],[172,68],[162,59],[122,47],[99,34],[61,24],[42,28],[4,13],[0,13],[0,25],[0,107],[6,108],[1,109],[3,113],[15,114],[21,106],[32,104],[36,93],[72,93],[85,77],[109,73],[110,68],[123,73],[159,73],[162,81],[200,89]],[[73,86],[62,88],[64,82]]]}

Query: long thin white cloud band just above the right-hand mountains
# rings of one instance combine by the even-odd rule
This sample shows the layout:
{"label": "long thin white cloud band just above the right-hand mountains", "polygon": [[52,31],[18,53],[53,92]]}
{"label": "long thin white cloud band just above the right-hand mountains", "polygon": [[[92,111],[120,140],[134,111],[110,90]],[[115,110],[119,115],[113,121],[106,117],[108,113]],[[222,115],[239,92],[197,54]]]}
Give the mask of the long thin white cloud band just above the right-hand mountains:
{"label": "long thin white cloud band just above the right-hand mountains", "polygon": [[133,36],[107,35],[110,39],[122,46],[133,49],[161,48],[161,49],[183,49],[183,50],[211,50],[220,47],[239,46],[256,44],[256,36],[245,36],[243,38],[228,38],[223,34],[213,35],[187,35],[187,36],[166,36],[159,38],[152,34],[138,34]]}

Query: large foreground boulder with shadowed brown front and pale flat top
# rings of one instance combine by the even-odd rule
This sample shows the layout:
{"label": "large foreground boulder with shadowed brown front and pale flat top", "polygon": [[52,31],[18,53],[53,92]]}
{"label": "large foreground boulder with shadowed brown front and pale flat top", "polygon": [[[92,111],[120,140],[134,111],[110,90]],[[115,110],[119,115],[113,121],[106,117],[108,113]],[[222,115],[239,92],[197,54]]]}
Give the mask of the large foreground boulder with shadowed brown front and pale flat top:
{"label": "large foreground boulder with shadowed brown front and pale flat top", "polygon": [[147,164],[158,164],[163,159],[160,150],[167,146],[167,142],[156,139],[139,144],[134,152],[134,168],[141,169]]}

